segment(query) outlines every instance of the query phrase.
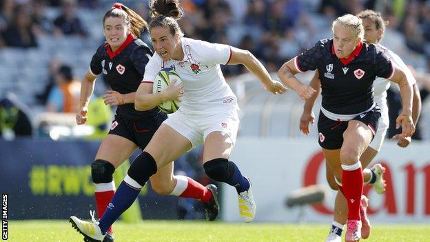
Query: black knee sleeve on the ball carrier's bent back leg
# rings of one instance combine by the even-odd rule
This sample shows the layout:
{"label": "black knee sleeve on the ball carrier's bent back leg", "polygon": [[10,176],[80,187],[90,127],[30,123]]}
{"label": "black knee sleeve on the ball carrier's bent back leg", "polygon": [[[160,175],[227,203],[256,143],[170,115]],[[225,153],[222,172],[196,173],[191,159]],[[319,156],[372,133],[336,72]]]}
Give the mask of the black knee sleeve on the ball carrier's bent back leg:
{"label": "black knee sleeve on the ball carrier's bent back leg", "polygon": [[210,179],[214,181],[227,181],[231,177],[232,165],[234,165],[232,161],[228,161],[225,158],[216,158],[204,163],[203,169]]}

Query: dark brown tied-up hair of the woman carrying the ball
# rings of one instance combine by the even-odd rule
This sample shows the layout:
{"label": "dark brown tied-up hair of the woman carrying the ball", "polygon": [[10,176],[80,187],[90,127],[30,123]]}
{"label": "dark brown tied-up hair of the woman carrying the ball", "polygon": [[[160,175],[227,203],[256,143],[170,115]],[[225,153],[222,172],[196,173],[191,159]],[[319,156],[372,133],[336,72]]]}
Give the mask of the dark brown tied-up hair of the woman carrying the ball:
{"label": "dark brown tied-up hair of the woman carrying the ball", "polygon": [[179,6],[178,0],[151,0],[150,1],[150,31],[156,27],[169,28],[170,34],[179,34],[183,32],[176,20],[181,19],[183,10]]}

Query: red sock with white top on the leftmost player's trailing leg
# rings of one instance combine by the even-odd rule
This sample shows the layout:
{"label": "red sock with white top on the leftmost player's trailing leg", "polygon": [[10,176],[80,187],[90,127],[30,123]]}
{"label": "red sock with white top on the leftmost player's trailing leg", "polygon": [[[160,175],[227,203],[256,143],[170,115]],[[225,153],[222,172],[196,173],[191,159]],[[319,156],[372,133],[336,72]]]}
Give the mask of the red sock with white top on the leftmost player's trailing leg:
{"label": "red sock with white top on the leftmost player's trailing leg", "polygon": [[190,177],[175,176],[176,187],[171,193],[172,195],[187,197],[191,199],[200,199],[206,203],[211,199],[212,193],[201,183],[194,181]]}

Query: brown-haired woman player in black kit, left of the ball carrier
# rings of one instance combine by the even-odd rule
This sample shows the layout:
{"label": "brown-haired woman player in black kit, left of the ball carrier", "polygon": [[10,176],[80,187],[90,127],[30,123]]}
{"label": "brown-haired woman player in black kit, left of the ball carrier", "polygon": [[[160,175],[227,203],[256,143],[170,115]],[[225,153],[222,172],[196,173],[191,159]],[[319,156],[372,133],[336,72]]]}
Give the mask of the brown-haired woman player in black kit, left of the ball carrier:
{"label": "brown-haired woman player in black kit, left of the ball carrier", "polygon": [[[112,174],[125,159],[136,150],[146,147],[152,135],[167,115],[158,108],[146,111],[134,109],[134,96],[143,79],[145,66],[152,56],[150,48],[137,37],[141,36],[147,23],[139,14],[121,3],[115,3],[103,15],[103,30],[106,42],[92,57],[90,69],[85,74],[81,90],[81,108],[76,114],[76,123],[85,123],[88,119],[88,102],[94,90],[94,83],[99,74],[103,75],[112,91],[103,97],[108,105],[116,105],[115,120],[110,132],[96,154],[91,165],[92,180],[95,185],[95,201],[99,217],[107,209],[115,192]],[[180,94],[180,87],[170,88],[165,92],[175,99]],[[136,157],[136,160],[140,156]],[[207,187],[190,177],[173,174],[173,163],[158,169],[151,178],[152,189],[158,194],[171,194],[202,201],[209,221],[218,215],[216,186]],[[107,230],[104,242],[112,242],[112,229]]]}

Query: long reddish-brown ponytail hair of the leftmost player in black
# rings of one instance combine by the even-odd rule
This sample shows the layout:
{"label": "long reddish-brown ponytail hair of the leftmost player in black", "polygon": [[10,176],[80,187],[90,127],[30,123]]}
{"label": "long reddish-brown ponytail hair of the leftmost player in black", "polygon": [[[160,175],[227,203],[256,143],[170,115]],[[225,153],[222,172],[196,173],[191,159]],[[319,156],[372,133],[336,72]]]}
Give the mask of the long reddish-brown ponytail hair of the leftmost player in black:
{"label": "long reddish-brown ponytail hair of the leftmost player in black", "polygon": [[107,10],[103,16],[103,23],[108,17],[120,17],[124,19],[127,26],[130,28],[130,32],[134,34],[135,37],[141,37],[143,28],[147,27],[147,23],[142,19],[139,14],[136,14],[133,10],[123,5],[122,3],[114,3],[110,10]]}

